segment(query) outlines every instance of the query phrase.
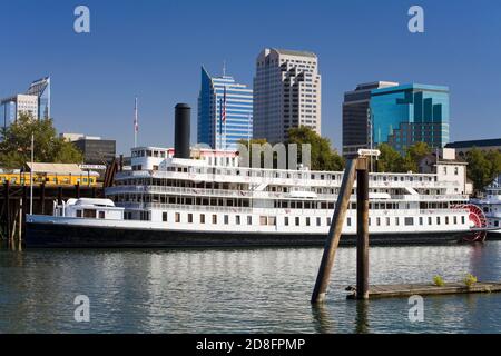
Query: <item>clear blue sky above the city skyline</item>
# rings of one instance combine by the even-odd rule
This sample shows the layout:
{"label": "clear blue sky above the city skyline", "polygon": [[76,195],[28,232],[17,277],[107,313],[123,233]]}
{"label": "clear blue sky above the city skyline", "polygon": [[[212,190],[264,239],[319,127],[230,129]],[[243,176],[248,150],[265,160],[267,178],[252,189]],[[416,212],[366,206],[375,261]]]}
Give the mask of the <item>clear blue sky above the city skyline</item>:
{"label": "clear blue sky above the city skyline", "polygon": [[[73,31],[73,9],[90,9],[91,32]],[[407,31],[407,9],[424,8],[425,32]],[[0,97],[52,78],[59,131],[139,144],[174,142],[174,106],[193,107],[199,68],[252,85],[265,47],[318,55],[322,134],[341,148],[343,92],[394,80],[451,89],[451,139],[501,137],[501,2],[498,0],[1,0]]]}

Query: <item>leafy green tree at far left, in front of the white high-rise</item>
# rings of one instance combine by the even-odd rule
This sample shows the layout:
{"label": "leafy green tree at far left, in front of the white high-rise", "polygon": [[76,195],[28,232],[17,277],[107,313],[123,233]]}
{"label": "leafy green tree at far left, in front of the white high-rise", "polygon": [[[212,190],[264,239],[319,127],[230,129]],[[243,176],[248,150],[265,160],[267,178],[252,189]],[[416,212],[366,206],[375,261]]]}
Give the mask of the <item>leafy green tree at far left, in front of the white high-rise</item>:
{"label": "leafy green tree at far left, in front of the white high-rise", "polygon": [[35,137],[35,160],[39,162],[79,164],[81,152],[57,136],[52,120],[35,120],[21,113],[19,119],[2,129],[0,167],[21,168],[31,159],[31,135]]}

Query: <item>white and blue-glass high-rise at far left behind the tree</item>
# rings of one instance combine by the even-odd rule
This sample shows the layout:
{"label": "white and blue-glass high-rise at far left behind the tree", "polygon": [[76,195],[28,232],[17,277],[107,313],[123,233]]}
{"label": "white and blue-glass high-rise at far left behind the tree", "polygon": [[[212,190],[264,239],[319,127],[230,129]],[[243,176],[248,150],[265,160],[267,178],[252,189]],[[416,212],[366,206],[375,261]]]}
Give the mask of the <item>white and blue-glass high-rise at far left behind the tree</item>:
{"label": "white and blue-glass high-rise at far left behind the tree", "polygon": [[50,78],[36,80],[26,93],[14,95],[0,100],[0,125],[9,126],[28,113],[33,119],[50,118]]}

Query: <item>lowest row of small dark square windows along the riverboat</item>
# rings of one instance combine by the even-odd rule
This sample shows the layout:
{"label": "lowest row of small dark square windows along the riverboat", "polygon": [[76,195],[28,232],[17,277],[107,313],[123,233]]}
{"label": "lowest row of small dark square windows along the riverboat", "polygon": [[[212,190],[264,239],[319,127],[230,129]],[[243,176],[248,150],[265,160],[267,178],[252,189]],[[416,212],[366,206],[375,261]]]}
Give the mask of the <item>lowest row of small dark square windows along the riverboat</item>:
{"label": "lowest row of small dark square windows along the riverboat", "polygon": [[[144,211],[147,212],[147,211]],[[129,212],[130,214],[130,212]],[[128,216],[129,218],[131,218],[131,215]],[[149,214],[148,215],[141,215],[140,217],[141,219],[149,219]],[[217,225],[218,224],[218,215],[216,214],[212,214],[212,215],[206,215],[206,214],[199,214],[198,217],[198,221],[197,224],[213,224],[213,225]],[[332,218],[327,217],[327,218],[321,218],[321,217],[316,217],[316,218],[312,218],[312,217],[281,217],[283,219],[284,226],[322,226],[322,224],[324,222],[326,226],[331,226],[332,222]],[[458,225],[458,216],[445,216],[445,217],[431,217],[429,216],[428,218],[425,217],[419,217],[419,218],[414,218],[414,217],[395,217],[395,218],[369,218],[369,226],[414,226],[414,225]],[[262,226],[276,226],[277,225],[277,217],[276,216],[259,216],[258,218],[258,225]],[[168,214],[165,211],[161,214],[161,220],[164,222],[168,222]],[[223,224],[224,225],[229,225],[229,224],[234,224],[234,225],[244,225],[244,220],[246,221],[247,225],[253,225],[254,224],[254,217],[252,215],[247,215],[247,216],[240,216],[240,215],[235,215],[232,216],[232,222],[230,222],[230,216],[229,215],[224,215],[223,216]],[[392,221],[393,220],[393,221]],[[181,212],[175,212],[174,215],[174,222],[187,222],[187,224],[194,224],[194,214],[193,212],[188,212],[188,214],[181,214]],[[354,226],[353,224],[356,225],[356,219],[352,219],[352,218],[346,218],[346,225],[347,226]],[[465,217],[461,216],[461,224],[464,225],[465,224]]]}

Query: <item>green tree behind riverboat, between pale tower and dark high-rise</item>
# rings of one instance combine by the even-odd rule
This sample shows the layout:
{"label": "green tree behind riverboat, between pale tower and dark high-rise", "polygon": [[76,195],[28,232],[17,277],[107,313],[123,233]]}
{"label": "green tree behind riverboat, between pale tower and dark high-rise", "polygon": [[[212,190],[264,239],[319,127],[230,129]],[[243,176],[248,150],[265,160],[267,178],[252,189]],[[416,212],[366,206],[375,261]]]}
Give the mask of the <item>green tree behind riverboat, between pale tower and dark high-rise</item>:
{"label": "green tree behind riverboat, between pale tower and dark high-rise", "polygon": [[[310,144],[312,154],[312,170],[343,170],[345,161],[331,148],[331,140],[321,137],[308,127],[301,126],[288,130],[287,144]],[[301,149],[298,148],[301,159]]]}

